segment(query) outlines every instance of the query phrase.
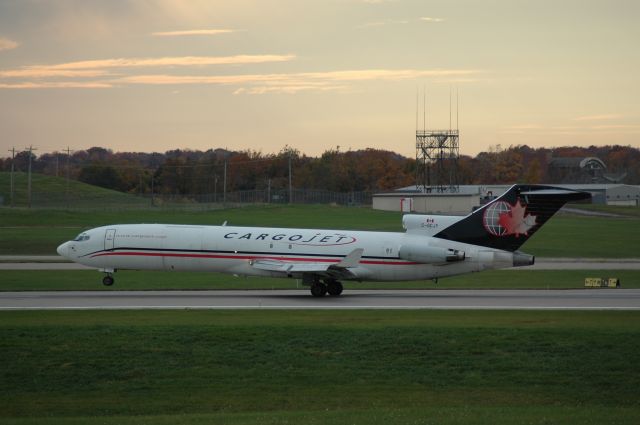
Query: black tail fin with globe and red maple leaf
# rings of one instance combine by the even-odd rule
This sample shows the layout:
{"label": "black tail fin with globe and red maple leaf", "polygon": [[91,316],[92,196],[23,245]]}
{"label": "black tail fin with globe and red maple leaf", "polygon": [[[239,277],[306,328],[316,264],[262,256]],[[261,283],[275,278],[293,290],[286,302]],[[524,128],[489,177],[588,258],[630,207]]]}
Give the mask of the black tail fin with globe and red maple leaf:
{"label": "black tail fin with globe and red maple leaf", "polygon": [[564,204],[590,197],[559,187],[515,185],[434,236],[513,252]]}

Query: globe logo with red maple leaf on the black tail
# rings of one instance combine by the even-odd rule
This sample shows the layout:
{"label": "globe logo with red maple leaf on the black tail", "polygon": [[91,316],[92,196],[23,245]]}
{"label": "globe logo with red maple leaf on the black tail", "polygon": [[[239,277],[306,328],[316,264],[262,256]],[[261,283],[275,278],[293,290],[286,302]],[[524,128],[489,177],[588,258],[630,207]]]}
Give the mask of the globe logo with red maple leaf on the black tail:
{"label": "globe logo with red maple leaf on the black tail", "polygon": [[526,205],[518,199],[515,205],[498,201],[484,210],[482,224],[494,236],[527,235],[536,223],[536,216],[527,214]]}

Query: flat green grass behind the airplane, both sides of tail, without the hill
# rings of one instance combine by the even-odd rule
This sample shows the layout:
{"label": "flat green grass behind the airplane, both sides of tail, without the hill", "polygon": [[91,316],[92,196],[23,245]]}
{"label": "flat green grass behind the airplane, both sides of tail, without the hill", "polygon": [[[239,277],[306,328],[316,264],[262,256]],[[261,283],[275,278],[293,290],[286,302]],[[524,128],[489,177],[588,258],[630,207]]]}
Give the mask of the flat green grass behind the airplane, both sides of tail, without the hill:
{"label": "flat green grass behind the airplane, both sides of tail, without the hill", "polygon": [[[402,231],[401,215],[365,207],[266,205],[211,211],[0,209],[0,255],[55,254],[83,229],[110,223],[182,223]],[[559,215],[523,251],[539,257],[640,256],[640,218]]]}

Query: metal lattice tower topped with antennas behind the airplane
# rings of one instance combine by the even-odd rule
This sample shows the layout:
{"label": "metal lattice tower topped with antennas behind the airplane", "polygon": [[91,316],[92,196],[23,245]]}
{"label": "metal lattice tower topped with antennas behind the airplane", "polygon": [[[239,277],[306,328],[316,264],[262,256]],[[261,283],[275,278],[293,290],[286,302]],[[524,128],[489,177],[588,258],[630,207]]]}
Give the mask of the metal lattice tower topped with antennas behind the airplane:
{"label": "metal lattice tower topped with antennas behind the airplane", "polygon": [[458,130],[416,131],[416,185],[424,192],[458,192]]}

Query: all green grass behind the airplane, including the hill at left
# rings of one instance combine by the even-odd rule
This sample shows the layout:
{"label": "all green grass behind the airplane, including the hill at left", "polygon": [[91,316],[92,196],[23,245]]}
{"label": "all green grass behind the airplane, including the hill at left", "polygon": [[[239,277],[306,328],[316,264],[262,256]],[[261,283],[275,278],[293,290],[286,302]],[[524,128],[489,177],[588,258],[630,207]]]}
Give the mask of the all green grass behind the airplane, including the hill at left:
{"label": "all green grass behind the airplane, including the hill at left", "polygon": [[[33,175],[34,190],[50,203],[65,199],[66,180]],[[9,173],[0,172],[0,195],[8,203]],[[40,193],[40,192],[39,192]],[[64,196],[63,196],[64,195]],[[39,195],[40,196],[40,195]],[[47,198],[49,197],[49,198]],[[224,210],[172,210],[152,208],[136,196],[87,185],[69,183],[74,210],[0,208],[0,255],[55,254],[55,247],[80,231],[106,224],[174,223],[221,224],[265,227],[304,227],[402,231],[401,214],[368,207],[329,205],[253,205]],[[26,202],[26,175],[16,173],[18,205]],[[54,200],[57,201],[54,202]],[[48,202],[48,201],[47,201]],[[47,205],[44,202],[44,205]],[[83,211],[82,207],[92,210]],[[97,209],[99,208],[99,209]],[[623,258],[640,255],[640,208],[577,206],[612,212],[624,218],[554,217],[523,250],[543,257]]]}

